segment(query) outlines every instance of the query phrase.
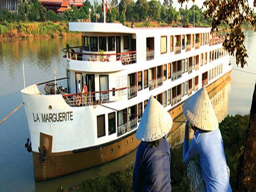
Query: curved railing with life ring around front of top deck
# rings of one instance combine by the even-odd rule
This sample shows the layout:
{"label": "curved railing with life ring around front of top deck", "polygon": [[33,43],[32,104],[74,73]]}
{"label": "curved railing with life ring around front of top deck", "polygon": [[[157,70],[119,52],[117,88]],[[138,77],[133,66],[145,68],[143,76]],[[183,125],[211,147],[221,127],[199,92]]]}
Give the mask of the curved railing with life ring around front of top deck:
{"label": "curved railing with life ring around front of top deck", "polygon": [[[80,47],[72,47],[71,50],[77,49]],[[83,51],[66,51],[66,48],[63,49],[64,58],[69,60],[79,60],[79,61],[90,61],[90,62],[114,62],[121,61],[123,65],[136,63],[137,56],[136,51],[122,52],[122,53],[110,53],[110,54],[101,54],[101,53],[84,53]]]}

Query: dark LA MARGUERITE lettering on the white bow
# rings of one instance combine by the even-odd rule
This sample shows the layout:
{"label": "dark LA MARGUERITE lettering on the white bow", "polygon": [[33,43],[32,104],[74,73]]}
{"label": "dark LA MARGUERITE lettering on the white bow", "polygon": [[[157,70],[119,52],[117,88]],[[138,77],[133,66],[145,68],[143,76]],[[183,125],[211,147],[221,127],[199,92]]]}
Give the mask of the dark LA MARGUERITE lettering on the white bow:
{"label": "dark LA MARGUERITE lettering on the white bow", "polygon": [[34,114],[34,122],[63,122],[63,121],[72,121],[73,120],[73,112],[59,112],[59,113],[42,113],[41,119],[39,118],[40,115],[38,113]]}

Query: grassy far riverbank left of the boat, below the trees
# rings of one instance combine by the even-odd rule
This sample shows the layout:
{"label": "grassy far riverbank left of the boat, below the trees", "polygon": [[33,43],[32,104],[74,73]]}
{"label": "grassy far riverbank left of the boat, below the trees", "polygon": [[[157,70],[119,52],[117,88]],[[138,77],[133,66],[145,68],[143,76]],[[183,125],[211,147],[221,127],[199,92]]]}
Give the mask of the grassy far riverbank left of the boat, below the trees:
{"label": "grassy far riverbank left of the boat, below the trees", "polygon": [[77,32],[68,30],[68,22],[2,22],[0,24],[0,39],[27,38],[59,38],[75,36]]}

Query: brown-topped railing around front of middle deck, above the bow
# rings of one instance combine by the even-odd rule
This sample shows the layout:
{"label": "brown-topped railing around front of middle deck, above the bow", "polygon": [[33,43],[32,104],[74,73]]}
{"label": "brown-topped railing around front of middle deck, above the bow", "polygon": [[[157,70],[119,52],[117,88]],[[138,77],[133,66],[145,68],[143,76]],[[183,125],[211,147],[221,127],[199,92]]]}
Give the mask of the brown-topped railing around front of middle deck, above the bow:
{"label": "brown-topped railing around front of middle deck, above the bow", "polygon": [[62,94],[65,102],[72,107],[95,106],[97,104],[125,100],[127,87],[77,94]]}

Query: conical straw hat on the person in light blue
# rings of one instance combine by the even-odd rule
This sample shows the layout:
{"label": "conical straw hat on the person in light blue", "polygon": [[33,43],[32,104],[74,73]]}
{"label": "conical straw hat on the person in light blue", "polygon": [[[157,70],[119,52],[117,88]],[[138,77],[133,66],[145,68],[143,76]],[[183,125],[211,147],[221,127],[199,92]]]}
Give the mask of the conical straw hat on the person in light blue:
{"label": "conical straw hat on the person in light blue", "polygon": [[218,119],[205,87],[188,98],[182,109],[187,120],[197,128],[206,131],[218,129]]}

